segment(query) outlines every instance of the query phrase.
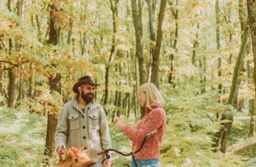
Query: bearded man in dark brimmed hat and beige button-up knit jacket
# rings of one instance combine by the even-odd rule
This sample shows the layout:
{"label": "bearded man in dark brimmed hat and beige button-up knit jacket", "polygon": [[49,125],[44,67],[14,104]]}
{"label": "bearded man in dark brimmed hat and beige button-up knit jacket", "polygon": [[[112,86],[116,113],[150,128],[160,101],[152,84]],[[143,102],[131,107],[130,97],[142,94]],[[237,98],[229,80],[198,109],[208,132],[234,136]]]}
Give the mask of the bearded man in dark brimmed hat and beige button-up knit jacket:
{"label": "bearded man in dark brimmed hat and beige button-up knit jacket", "polygon": [[[78,79],[73,86],[76,96],[67,102],[59,116],[55,133],[57,154],[63,154],[66,147],[84,147],[88,156],[101,167],[104,155],[98,156],[97,152],[111,148],[110,133],[104,109],[94,102],[96,84],[92,77],[86,75]],[[105,160],[103,166],[110,166],[110,160]]]}

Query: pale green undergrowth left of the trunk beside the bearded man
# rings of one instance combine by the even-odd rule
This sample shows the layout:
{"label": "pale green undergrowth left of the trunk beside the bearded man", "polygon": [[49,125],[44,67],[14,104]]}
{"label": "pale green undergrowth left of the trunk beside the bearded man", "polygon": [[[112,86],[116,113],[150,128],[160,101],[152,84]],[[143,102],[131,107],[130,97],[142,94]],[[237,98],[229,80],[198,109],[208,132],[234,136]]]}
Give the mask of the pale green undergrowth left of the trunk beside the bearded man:
{"label": "pale green undergrowth left of the trunk beside the bearded man", "polygon": [[0,108],[0,166],[45,166],[46,119]]}

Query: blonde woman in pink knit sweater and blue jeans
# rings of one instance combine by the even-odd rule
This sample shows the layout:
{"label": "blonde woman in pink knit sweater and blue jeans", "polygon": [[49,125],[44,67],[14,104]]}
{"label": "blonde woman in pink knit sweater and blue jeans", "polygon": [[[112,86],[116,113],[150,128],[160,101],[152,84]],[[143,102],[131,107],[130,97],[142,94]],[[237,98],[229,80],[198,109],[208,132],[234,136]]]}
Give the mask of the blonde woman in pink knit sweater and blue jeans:
{"label": "blonde woman in pink knit sweater and blue jeans", "polygon": [[[158,130],[156,135],[149,137],[140,152],[135,154],[139,166],[160,166],[160,143],[164,139],[166,131],[166,113],[163,110],[165,104],[158,88],[152,83],[139,86],[139,102],[141,106],[146,106],[146,114],[137,123],[136,128],[125,123],[116,123],[117,129],[123,131],[123,135],[132,140],[132,149],[139,148],[143,137],[154,130]],[[135,163],[131,160],[131,166]]]}

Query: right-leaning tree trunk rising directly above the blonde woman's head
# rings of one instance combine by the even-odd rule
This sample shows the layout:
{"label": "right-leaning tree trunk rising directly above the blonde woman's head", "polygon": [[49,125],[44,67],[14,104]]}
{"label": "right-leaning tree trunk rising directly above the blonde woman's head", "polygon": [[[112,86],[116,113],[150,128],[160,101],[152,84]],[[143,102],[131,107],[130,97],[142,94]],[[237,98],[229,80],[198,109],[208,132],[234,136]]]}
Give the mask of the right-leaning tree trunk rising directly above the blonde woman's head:
{"label": "right-leaning tree trunk rising directly above the blonde woman's head", "polygon": [[166,7],[166,0],[161,0],[160,11],[158,14],[158,32],[157,32],[157,38],[156,38],[156,50],[155,50],[155,55],[153,55],[152,77],[151,77],[151,82],[155,84],[157,87],[159,87],[158,70],[159,70],[159,63],[160,63],[160,55],[162,51],[162,34],[163,34],[162,24],[164,22],[165,7]]}

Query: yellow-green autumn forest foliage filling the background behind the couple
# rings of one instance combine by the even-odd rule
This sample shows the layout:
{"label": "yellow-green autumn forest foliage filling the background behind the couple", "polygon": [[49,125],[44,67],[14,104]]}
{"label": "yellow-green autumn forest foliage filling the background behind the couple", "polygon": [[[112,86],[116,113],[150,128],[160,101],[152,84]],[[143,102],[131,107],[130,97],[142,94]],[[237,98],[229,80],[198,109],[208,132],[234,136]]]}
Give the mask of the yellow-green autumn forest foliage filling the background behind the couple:
{"label": "yellow-green autumn forest foliage filling the background behind the couple", "polygon": [[[97,88],[97,100],[100,102],[104,99],[105,69],[110,67],[108,99],[111,100],[104,106],[109,122],[114,111],[124,114],[128,110],[122,106],[125,93],[130,93],[130,100],[137,100],[137,92],[135,96],[133,92],[139,86],[138,66],[141,65],[137,65],[135,57],[131,1],[119,1],[116,20],[112,20],[109,1],[32,0],[24,2],[23,15],[17,14],[17,1],[9,2],[10,9],[7,1],[0,2],[0,57],[1,61],[9,62],[0,65],[1,89],[4,91],[0,92],[0,102],[7,105],[5,94],[9,86],[7,70],[2,69],[13,64],[25,98],[19,100],[17,110],[0,108],[0,166],[43,166],[42,159],[46,158],[42,156],[46,130],[44,116],[48,112],[58,113],[63,103],[73,98],[72,87],[79,77],[92,75],[102,84]],[[49,5],[53,5],[53,2],[61,7],[61,11],[50,15]],[[157,18],[159,6],[158,1],[154,18]],[[176,9],[178,18],[174,18]],[[254,138],[247,138],[249,118],[245,112],[248,107],[245,106],[243,112],[237,114],[236,109],[224,104],[228,99],[234,61],[241,42],[238,1],[223,1],[220,9],[220,25],[216,25],[213,19],[216,17],[214,1],[168,1],[159,65],[160,90],[166,100],[168,123],[166,139],[161,146],[162,166],[255,166]],[[145,56],[143,67],[146,67],[148,75],[152,64],[152,46],[154,48],[156,42],[150,39],[148,13],[144,12],[148,11],[146,1],[143,1],[141,10]],[[61,28],[59,44],[55,46],[47,44],[51,17],[58,21],[55,26]],[[115,34],[113,21],[117,26]],[[155,20],[154,27],[157,25]],[[174,36],[176,26],[177,37]],[[220,26],[222,47],[219,49],[215,41],[216,26]],[[68,37],[70,43],[67,42]],[[113,38],[115,51],[113,61],[109,62]],[[12,45],[9,44],[10,40]],[[177,40],[176,48],[174,40]],[[193,54],[195,62],[191,63]],[[172,62],[171,55],[174,56]],[[217,67],[218,58],[222,58],[220,68]],[[248,54],[245,61],[248,64],[245,69],[249,71],[249,67],[253,67],[252,54]],[[174,69],[171,69],[171,64]],[[222,76],[218,76],[218,71]],[[61,94],[50,91],[49,78],[54,78],[56,73],[61,74]],[[170,74],[172,84],[168,81]],[[245,100],[245,104],[246,100],[255,96],[252,80],[243,75],[238,100]],[[222,84],[223,93],[218,92],[219,84]],[[30,88],[33,94],[28,97]],[[117,97],[115,92],[121,92],[120,106],[114,105]],[[238,154],[214,153],[212,135],[221,128],[216,115],[231,112],[234,123],[228,152],[232,152],[235,146],[251,142],[247,147],[249,151],[242,149]],[[134,108],[130,108],[129,113],[127,120],[135,125],[132,117]],[[247,119],[242,119],[242,116],[247,116]],[[110,130],[113,147],[130,152],[131,141],[113,125],[110,125]],[[242,160],[247,157],[251,160],[244,160],[246,162],[243,163]],[[114,159],[113,166],[129,166],[130,158],[115,155]]]}

